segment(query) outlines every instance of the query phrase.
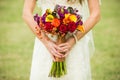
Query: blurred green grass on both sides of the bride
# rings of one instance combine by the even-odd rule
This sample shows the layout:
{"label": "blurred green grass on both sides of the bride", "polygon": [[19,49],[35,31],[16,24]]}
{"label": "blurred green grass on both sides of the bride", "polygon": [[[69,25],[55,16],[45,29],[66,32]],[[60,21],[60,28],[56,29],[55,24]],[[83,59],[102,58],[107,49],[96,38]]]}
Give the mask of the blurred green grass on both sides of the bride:
{"label": "blurred green grass on both sides of the bride", "polygon": [[[29,80],[34,35],[21,18],[24,0],[0,0],[0,80]],[[102,0],[94,28],[93,80],[120,80],[120,1]]]}

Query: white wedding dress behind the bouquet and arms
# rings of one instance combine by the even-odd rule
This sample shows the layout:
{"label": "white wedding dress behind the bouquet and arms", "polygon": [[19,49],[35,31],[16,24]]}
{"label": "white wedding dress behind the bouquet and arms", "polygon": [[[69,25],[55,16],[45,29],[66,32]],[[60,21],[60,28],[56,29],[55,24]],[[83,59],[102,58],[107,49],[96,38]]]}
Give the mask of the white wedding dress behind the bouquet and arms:
{"label": "white wedding dress behind the bouquet and arms", "polygon": [[[83,17],[83,21],[89,16],[87,0],[84,1],[82,6],[78,0],[74,4],[67,3],[66,0],[38,0],[37,3],[42,9],[42,13],[47,8],[53,9],[56,4],[59,4],[77,8],[79,14]],[[44,44],[36,38],[30,80],[91,80],[90,52],[93,53],[93,51],[94,44],[92,32],[90,31],[74,45],[70,54],[67,56],[67,75],[61,78],[51,78],[48,77],[52,65],[51,56]]]}

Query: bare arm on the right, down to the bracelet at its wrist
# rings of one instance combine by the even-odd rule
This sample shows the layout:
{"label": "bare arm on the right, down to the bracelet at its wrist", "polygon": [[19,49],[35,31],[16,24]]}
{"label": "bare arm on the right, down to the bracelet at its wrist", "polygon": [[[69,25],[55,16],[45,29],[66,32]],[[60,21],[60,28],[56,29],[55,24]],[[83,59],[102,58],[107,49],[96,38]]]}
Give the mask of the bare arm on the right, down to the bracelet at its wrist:
{"label": "bare arm on the right, down to the bracelet at its wrist", "polygon": [[77,31],[76,37],[78,40],[81,39],[86,33],[88,33],[100,20],[99,0],[88,0],[88,6],[90,11],[90,16],[83,24],[85,32],[82,33],[80,31]]}

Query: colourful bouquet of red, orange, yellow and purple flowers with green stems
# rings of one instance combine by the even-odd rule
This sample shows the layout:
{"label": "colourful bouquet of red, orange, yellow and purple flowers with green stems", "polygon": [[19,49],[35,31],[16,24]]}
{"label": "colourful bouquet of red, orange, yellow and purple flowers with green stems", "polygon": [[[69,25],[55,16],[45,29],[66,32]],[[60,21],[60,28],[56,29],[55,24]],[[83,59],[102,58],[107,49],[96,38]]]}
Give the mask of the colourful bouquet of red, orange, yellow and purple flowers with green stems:
{"label": "colourful bouquet of red, orange, yellow and purple flowers with green stems", "polygon": [[[65,42],[68,33],[74,33],[76,30],[84,32],[82,17],[77,12],[78,10],[72,7],[56,5],[54,10],[46,9],[42,16],[36,14],[34,20],[45,33],[57,35],[57,44],[60,44]],[[59,78],[67,73],[65,58],[56,57],[56,60],[52,63],[49,77]]]}

